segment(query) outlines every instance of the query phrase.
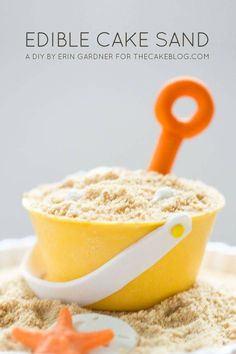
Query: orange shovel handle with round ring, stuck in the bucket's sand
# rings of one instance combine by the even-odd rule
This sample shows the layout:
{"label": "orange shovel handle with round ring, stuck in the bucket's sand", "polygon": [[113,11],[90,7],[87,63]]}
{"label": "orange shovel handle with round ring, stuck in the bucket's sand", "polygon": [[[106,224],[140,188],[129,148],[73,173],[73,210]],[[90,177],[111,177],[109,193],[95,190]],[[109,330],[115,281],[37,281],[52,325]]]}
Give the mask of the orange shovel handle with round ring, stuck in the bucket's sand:
{"label": "orange shovel handle with round ring, stuck in the bucket's sand", "polygon": [[[190,97],[197,102],[197,111],[188,122],[179,121],[172,112],[174,102],[181,97]],[[213,113],[213,98],[201,81],[181,78],[165,85],[155,104],[155,114],[162,125],[162,132],[149,170],[169,173],[183,139],[192,138],[204,130]]]}

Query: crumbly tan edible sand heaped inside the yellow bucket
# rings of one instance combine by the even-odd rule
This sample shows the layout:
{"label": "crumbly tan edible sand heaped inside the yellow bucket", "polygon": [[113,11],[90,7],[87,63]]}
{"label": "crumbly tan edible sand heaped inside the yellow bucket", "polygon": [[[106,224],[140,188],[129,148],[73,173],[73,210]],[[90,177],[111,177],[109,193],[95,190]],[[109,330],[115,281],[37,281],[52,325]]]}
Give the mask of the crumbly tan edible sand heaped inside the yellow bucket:
{"label": "crumbly tan edible sand heaped inside the yellow bucket", "polygon": [[157,222],[170,214],[199,215],[224,199],[198,181],[144,170],[98,168],[33,189],[24,205],[48,215],[96,222]]}

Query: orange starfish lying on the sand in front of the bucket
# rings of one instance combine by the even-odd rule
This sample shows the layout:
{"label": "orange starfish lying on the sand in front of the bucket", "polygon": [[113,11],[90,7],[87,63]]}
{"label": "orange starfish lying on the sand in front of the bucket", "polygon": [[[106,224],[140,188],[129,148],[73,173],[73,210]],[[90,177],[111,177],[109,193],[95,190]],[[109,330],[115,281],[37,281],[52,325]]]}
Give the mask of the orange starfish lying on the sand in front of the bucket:
{"label": "orange starfish lying on the sand in front of the bucket", "polygon": [[61,309],[57,324],[48,331],[29,332],[14,328],[12,337],[33,350],[35,354],[86,354],[108,344],[114,337],[111,329],[99,332],[77,332],[70,311]]}

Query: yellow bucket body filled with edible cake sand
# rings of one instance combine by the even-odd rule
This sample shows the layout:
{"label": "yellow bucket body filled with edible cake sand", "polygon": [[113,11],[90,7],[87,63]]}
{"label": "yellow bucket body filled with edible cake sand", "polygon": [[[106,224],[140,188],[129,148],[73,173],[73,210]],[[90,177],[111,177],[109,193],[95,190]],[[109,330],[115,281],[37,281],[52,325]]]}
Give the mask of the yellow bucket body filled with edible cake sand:
{"label": "yellow bucket body filled with edible cake sand", "polygon": [[[37,235],[34,259],[52,282],[80,278],[160,227],[160,223],[98,223],[30,212]],[[134,311],[186,290],[196,280],[218,209],[192,218],[192,231],[155,265],[124,288],[89,307]],[[142,262],[142,259],[140,259]],[[56,294],[55,294],[56,296]]]}

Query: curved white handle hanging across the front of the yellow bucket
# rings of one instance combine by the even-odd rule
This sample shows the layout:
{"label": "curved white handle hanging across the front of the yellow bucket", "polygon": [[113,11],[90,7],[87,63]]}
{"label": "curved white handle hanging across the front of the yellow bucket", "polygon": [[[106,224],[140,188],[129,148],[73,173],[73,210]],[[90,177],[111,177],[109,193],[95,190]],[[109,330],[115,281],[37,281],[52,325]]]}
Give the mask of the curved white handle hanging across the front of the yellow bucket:
{"label": "curved white handle hanging across the front of the yellow bucket", "polygon": [[124,251],[95,271],[68,282],[49,282],[30,273],[29,256],[23,262],[22,272],[30,288],[40,298],[75,301],[85,306],[100,301],[148,270],[181,242],[192,229],[191,218],[177,214],[168,222]]}

